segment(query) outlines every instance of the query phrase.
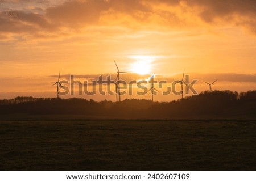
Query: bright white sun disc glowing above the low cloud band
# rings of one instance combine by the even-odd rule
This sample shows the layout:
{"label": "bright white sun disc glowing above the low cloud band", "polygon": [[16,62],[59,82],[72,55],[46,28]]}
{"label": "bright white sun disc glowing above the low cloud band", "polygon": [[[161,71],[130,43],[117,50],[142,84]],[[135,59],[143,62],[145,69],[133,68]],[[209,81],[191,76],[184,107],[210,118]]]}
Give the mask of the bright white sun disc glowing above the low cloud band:
{"label": "bright white sun disc glowing above the low cloud band", "polygon": [[133,60],[135,60],[131,64],[131,71],[133,73],[145,75],[150,74],[152,71],[152,62],[154,61],[153,56],[144,56],[144,55],[136,55],[130,56]]}

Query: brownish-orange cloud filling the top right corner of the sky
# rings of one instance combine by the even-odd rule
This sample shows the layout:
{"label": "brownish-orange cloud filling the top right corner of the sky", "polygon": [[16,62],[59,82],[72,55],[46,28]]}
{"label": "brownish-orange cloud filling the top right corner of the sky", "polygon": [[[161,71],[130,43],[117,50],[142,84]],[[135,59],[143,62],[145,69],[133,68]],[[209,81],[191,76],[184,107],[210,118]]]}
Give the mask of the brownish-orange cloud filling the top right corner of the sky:
{"label": "brownish-orange cloud filling the top right corner of the sky", "polygon": [[254,0],[185,0],[190,7],[201,7],[199,17],[204,22],[214,24],[216,22],[242,26],[256,33],[256,1]]}

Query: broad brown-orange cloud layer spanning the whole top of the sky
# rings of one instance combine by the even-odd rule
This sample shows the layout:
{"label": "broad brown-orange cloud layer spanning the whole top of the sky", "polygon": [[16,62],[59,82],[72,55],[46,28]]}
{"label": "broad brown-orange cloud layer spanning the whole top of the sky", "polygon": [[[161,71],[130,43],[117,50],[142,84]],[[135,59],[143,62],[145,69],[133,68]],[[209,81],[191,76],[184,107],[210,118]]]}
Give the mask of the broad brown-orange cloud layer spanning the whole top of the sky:
{"label": "broad brown-orange cloud layer spanning the whole top of the sky", "polygon": [[[10,5],[0,10],[0,32],[59,36],[89,26],[122,26],[130,29],[188,29],[204,27],[197,21],[217,26],[240,26],[256,34],[254,0],[73,0],[49,4],[38,0],[32,7],[28,0],[2,1]],[[9,3],[9,4],[8,4]],[[22,9],[15,9],[13,4]],[[216,23],[217,22],[217,23]],[[221,23],[218,24],[218,23]],[[43,32],[43,33],[39,33]]]}

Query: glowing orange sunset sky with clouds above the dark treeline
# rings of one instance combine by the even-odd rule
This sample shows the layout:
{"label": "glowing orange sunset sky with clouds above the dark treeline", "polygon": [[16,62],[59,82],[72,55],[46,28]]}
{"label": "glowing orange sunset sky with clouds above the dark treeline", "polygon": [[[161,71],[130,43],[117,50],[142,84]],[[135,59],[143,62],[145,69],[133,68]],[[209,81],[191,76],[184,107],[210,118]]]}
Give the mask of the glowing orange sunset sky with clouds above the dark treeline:
{"label": "glowing orange sunset sky with clouds above the dark treeline", "polygon": [[59,70],[115,79],[113,60],[133,73],[123,79],[171,82],[185,69],[197,92],[217,78],[213,90],[255,90],[255,17],[255,0],[0,0],[0,99],[54,97]]}

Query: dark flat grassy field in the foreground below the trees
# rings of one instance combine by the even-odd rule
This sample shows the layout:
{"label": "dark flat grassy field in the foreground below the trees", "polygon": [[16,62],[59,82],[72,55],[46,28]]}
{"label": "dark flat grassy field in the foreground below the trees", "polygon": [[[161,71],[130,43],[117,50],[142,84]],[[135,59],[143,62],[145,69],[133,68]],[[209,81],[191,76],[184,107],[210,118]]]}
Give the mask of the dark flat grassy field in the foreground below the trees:
{"label": "dark flat grassy field in the foreground below the trees", "polygon": [[0,170],[256,170],[256,121],[0,121]]}

